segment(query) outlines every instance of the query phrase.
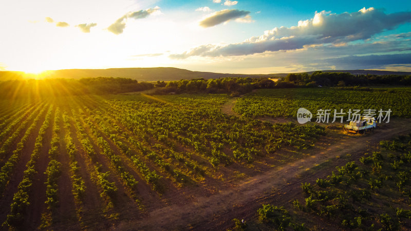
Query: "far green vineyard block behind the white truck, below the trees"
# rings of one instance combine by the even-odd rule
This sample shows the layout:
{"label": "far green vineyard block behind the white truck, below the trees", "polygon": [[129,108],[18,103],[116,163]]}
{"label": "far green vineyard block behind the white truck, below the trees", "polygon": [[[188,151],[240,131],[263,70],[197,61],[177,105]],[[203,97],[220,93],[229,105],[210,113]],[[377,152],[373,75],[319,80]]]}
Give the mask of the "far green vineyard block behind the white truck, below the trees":
{"label": "far green vineyard block behind the white truck, below the trees", "polygon": [[[319,109],[334,109],[347,113],[349,109],[386,111],[390,109],[391,117],[411,117],[411,89],[409,88],[293,88],[261,89],[239,98],[234,111],[246,117],[292,117],[296,118],[298,108],[306,108],[315,115]],[[385,115],[385,114],[384,114]],[[347,115],[345,115],[347,119]]]}

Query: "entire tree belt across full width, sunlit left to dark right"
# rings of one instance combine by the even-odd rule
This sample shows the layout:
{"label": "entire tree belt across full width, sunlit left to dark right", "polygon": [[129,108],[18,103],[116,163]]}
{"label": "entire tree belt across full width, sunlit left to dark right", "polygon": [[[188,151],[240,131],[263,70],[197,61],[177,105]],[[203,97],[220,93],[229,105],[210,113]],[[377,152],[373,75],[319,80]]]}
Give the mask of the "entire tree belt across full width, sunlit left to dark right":
{"label": "entire tree belt across full width, sunlit left to dark right", "polygon": [[[153,89],[153,94],[169,93],[231,93],[244,94],[261,88],[354,87],[369,85],[411,85],[411,75],[374,75],[315,71],[290,73],[284,79],[218,78],[179,81],[138,82],[126,78],[83,78],[0,81],[0,98],[39,97],[81,94],[117,94]],[[357,87],[358,88],[358,87]]]}

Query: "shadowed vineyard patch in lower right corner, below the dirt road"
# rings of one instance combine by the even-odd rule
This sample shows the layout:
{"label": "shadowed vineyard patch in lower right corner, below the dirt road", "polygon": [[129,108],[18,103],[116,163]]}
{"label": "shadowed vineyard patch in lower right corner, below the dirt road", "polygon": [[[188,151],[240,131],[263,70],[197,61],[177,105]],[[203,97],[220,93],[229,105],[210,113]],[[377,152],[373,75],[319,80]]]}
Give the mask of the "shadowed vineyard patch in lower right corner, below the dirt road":
{"label": "shadowed vineyard patch in lower right corner, below the dirt road", "polygon": [[264,204],[258,221],[235,220],[236,229],[305,230],[321,223],[333,229],[409,230],[410,174],[411,136],[383,140],[378,150],[302,183],[302,195],[289,204]]}

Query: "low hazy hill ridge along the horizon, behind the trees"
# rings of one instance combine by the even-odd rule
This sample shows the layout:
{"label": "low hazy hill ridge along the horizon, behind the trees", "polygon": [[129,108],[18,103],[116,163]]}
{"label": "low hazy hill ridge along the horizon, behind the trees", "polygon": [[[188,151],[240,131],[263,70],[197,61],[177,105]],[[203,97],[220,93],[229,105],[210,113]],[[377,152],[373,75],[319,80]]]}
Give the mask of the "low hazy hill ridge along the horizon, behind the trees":
{"label": "low hazy hill ridge along the horizon, behind the trees", "polygon": [[[307,73],[312,73],[307,72]],[[411,72],[397,71],[377,71],[377,70],[326,70],[323,72],[349,72],[352,74],[411,74]],[[110,69],[65,69],[51,70],[43,73],[45,78],[65,78],[65,79],[81,79],[95,77],[122,77],[130,78],[138,81],[174,81],[181,79],[218,79],[225,77],[268,77],[281,78],[287,73],[277,74],[228,74],[214,73],[202,71],[190,71],[174,67],[155,67],[155,68],[110,68]],[[34,74],[26,74],[21,71],[0,71],[0,80],[15,80],[23,78],[35,78]]]}

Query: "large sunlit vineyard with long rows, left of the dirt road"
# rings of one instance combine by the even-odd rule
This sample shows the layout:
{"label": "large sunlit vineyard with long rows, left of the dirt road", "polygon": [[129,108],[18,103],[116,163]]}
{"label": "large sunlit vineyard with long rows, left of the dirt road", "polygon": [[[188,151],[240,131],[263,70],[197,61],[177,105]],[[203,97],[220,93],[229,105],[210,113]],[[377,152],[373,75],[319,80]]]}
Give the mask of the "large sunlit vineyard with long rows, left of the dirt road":
{"label": "large sunlit vineyard with long rows, left of the dirt road", "polygon": [[[3,228],[86,229],[213,195],[301,158],[316,125],[228,116],[226,94],[78,95],[0,102]],[[285,153],[291,153],[286,155]]]}

